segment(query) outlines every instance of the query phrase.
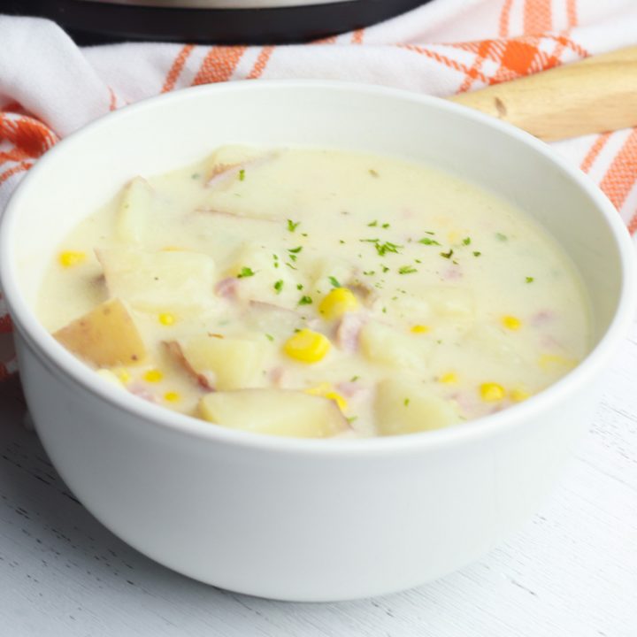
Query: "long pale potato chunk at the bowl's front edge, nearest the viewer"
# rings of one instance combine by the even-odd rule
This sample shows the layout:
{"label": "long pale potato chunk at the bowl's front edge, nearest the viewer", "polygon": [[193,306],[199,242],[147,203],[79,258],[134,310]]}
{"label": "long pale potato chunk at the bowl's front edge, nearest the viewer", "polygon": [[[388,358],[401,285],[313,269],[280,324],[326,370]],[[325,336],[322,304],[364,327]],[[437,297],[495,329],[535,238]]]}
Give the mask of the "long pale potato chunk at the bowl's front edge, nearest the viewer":
{"label": "long pale potato chunk at the bowl's front edge, nearest the viewer", "polygon": [[333,400],[289,389],[213,392],[199,410],[216,425],[256,434],[326,438],[349,426]]}

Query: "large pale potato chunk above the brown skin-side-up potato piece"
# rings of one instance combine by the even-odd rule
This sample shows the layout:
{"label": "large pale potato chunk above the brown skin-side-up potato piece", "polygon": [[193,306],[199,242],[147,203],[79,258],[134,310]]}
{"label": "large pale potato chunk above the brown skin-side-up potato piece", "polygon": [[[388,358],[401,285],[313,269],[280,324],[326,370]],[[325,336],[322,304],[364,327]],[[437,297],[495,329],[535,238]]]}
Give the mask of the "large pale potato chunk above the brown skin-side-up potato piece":
{"label": "large pale potato chunk above the brown skin-side-up potato piece", "polygon": [[142,311],[192,313],[214,298],[214,261],[197,252],[111,248],[97,253],[106,287]]}

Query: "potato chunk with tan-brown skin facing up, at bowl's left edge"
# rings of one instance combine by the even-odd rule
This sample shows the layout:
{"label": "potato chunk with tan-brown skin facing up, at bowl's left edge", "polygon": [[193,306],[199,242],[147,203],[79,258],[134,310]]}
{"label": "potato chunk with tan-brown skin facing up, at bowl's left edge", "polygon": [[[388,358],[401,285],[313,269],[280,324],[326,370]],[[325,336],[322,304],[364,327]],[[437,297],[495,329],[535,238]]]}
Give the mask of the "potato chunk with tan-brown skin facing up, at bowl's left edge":
{"label": "potato chunk with tan-brown skin facing up, at bowl's left edge", "polygon": [[133,318],[117,298],[98,305],[53,336],[73,354],[97,367],[130,365],[146,355]]}

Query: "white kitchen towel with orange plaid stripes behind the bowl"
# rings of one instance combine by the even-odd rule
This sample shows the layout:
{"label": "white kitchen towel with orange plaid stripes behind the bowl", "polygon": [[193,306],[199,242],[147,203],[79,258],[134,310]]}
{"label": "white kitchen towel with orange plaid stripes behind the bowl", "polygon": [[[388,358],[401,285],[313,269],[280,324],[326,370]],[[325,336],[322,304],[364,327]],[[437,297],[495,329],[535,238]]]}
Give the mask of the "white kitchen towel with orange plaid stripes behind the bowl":
{"label": "white kitchen towel with orange plaid stripes behind the bowl", "polygon": [[[390,1],[390,0],[388,0]],[[294,46],[129,43],[79,49],[55,24],[0,16],[0,210],[59,138],[108,111],[219,81],[335,78],[437,96],[637,44],[634,0],[434,0]],[[554,144],[637,231],[637,130]],[[0,296],[0,378],[16,369]]]}

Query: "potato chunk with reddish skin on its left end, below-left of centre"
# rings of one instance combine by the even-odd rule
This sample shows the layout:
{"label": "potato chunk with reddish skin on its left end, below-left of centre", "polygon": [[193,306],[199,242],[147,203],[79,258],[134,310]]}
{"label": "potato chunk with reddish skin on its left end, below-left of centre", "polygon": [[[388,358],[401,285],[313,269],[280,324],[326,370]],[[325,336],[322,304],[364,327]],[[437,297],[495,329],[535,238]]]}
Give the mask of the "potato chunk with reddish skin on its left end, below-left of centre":
{"label": "potato chunk with reddish skin on its left end, below-left of centre", "polygon": [[271,349],[266,342],[207,335],[167,344],[203,387],[220,391],[257,387],[263,376],[265,357]]}

